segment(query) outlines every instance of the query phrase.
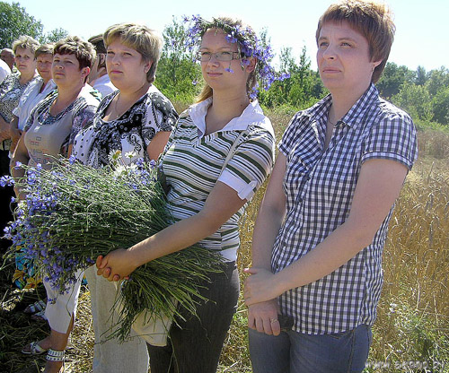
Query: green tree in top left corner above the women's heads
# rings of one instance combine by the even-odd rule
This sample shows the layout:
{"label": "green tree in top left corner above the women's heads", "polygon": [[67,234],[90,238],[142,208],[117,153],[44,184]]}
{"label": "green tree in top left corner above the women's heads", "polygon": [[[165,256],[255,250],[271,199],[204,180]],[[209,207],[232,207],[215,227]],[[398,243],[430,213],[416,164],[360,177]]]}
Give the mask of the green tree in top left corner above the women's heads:
{"label": "green tree in top left corner above the women's heads", "polygon": [[0,2],[0,48],[11,48],[13,41],[21,35],[42,40],[43,25],[26,13],[19,3]]}

